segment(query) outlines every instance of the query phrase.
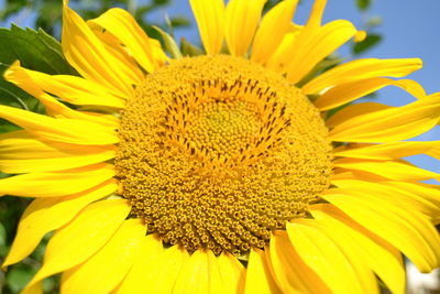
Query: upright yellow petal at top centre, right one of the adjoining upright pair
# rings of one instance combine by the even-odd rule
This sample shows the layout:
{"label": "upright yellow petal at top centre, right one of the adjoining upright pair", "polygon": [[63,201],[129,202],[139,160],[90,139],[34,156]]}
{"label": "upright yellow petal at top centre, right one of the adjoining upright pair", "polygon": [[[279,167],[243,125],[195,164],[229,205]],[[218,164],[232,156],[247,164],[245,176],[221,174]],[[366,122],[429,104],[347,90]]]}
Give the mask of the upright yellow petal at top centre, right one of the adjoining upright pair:
{"label": "upright yellow petal at top centre, right one of the adjoining upright pair", "polygon": [[233,56],[243,56],[254,37],[267,0],[231,0],[226,10],[226,40]]}

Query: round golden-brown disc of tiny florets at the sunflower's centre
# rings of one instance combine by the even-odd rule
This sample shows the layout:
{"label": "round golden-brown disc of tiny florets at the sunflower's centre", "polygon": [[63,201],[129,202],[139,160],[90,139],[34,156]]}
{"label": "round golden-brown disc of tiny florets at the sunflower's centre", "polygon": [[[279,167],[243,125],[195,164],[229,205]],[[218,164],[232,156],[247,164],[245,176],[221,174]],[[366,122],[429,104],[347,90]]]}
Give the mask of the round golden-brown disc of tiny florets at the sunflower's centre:
{"label": "round golden-brown disc of tiny florets at the sunflower's centre", "polygon": [[329,185],[318,110],[260,65],[226,55],[173,61],[122,112],[121,193],[148,232],[189,251],[243,253],[305,217]]}

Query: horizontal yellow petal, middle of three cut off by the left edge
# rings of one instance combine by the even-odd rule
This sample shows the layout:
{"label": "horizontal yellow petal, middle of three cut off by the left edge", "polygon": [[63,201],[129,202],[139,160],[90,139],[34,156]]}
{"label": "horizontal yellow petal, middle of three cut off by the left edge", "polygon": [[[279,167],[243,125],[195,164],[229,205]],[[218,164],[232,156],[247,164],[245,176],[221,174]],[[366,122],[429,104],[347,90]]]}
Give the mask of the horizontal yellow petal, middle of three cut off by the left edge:
{"label": "horizontal yellow petal, middle of three cut off by the left edge", "polygon": [[9,174],[55,172],[113,159],[114,146],[85,146],[38,140],[25,131],[0,135],[0,171]]}

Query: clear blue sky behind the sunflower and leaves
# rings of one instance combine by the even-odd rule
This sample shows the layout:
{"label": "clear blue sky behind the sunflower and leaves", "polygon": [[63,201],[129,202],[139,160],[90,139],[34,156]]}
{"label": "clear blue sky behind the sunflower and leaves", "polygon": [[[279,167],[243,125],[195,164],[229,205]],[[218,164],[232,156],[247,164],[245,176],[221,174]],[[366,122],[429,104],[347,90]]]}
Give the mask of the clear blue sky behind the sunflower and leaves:
{"label": "clear blue sky behind the sunflower and leaves", "polygon": [[[145,2],[146,0],[138,0]],[[0,0],[0,9],[3,0]],[[298,7],[295,21],[305,23],[310,11],[312,1],[304,0]],[[383,34],[383,42],[369,51],[361,57],[420,57],[424,61],[424,68],[410,75],[410,78],[420,83],[425,89],[431,94],[440,91],[440,0],[373,0],[369,15],[380,15],[383,18],[381,26],[376,32]],[[161,9],[148,19],[152,21],[163,20],[164,15],[183,14],[193,19],[188,1],[174,0],[170,7]],[[355,25],[362,23],[364,15],[355,7],[355,0],[329,0],[324,13],[324,22],[336,19],[346,19]],[[31,18],[21,25],[26,25]],[[176,31],[176,36],[197,42],[198,32],[196,25]],[[411,101],[413,98],[404,91],[388,88],[380,92],[378,101],[402,106]],[[439,140],[440,128],[424,134],[418,140]],[[414,159],[417,164],[426,168],[440,172],[440,165],[428,156],[417,156]]]}

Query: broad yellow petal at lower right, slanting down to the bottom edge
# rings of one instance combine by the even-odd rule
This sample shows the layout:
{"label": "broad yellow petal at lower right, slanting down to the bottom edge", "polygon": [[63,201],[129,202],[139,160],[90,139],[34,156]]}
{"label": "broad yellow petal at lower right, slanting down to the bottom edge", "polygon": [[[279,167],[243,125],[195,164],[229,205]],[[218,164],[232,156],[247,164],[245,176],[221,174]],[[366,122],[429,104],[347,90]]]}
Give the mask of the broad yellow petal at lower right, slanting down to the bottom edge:
{"label": "broad yellow petal at lower right, slanting down to the bottom edge", "polygon": [[332,293],[378,293],[364,257],[348,236],[312,219],[295,219],[286,230],[304,262]]}

